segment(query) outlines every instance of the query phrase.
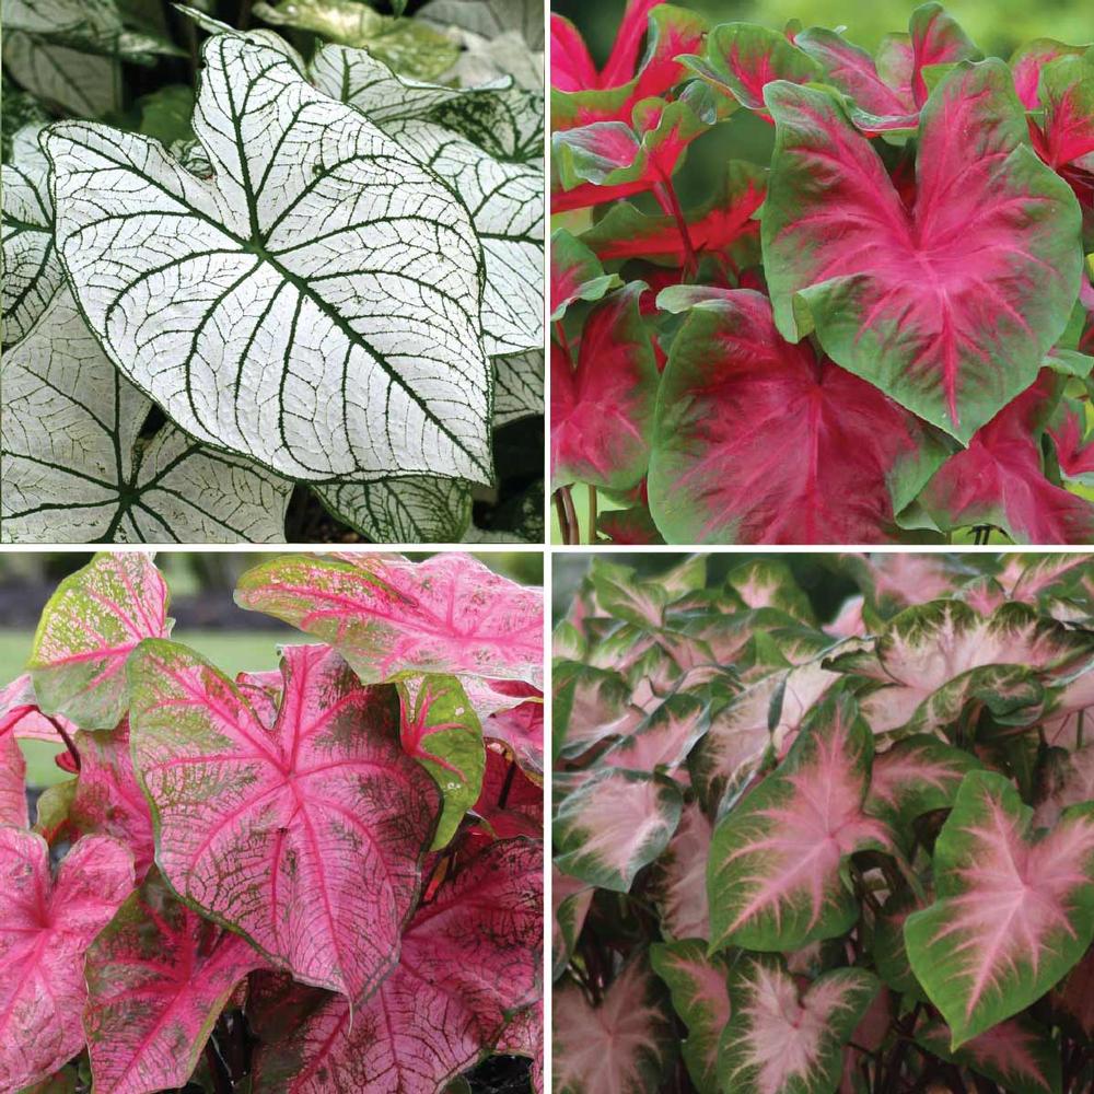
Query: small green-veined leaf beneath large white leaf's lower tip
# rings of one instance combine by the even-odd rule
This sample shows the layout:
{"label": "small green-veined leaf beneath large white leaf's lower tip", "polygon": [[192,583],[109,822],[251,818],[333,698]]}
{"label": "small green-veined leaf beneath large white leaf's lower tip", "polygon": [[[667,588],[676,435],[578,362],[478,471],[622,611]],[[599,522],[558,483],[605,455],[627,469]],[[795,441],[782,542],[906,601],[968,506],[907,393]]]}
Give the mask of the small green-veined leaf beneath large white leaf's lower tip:
{"label": "small green-veined leaf beneath large white leaf's lower tip", "polygon": [[415,475],[316,487],[344,524],[376,544],[459,543],[472,523],[472,492],[461,479]]}

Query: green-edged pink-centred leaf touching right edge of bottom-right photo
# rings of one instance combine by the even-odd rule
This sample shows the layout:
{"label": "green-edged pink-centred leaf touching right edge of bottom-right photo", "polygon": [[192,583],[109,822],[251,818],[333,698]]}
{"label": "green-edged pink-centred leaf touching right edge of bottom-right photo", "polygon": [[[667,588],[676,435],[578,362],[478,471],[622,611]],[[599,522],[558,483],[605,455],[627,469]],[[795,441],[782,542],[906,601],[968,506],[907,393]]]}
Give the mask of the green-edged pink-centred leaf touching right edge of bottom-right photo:
{"label": "green-edged pink-centred leaf touching right edge of bottom-right photo", "polygon": [[969,772],[935,842],[935,903],[905,922],[955,1049],[1039,999],[1094,939],[1094,803],[1048,833],[1032,817],[1002,776]]}

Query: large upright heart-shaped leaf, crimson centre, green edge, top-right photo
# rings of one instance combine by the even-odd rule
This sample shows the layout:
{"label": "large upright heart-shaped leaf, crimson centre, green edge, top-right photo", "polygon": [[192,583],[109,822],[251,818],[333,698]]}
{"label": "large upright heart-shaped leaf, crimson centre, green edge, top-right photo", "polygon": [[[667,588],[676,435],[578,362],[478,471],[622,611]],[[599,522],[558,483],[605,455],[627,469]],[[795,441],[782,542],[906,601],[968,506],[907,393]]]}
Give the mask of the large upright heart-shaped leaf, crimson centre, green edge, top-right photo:
{"label": "large upright heart-shaped leaf, crimson centre, green edge, top-right photo", "polygon": [[[909,209],[831,92],[773,83],[761,238],[776,323],[967,443],[1028,387],[1079,292],[1080,211],[1002,61],[923,107]],[[974,256],[970,258],[969,256]]]}

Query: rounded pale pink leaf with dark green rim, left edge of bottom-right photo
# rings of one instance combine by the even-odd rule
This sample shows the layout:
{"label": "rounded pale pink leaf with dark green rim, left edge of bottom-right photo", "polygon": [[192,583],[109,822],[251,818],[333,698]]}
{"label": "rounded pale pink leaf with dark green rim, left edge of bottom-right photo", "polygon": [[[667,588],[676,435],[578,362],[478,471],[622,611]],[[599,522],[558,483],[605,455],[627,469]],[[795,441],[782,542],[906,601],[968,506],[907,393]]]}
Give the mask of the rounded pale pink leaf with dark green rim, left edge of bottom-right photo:
{"label": "rounded pale pink leaf with dark green rim, left edge of bottom-right photo", "polygon": [[591,885],[626,893],[668,846],[682,806],[679,788],[663,776],[597,772],[555,813],[555,861]]}

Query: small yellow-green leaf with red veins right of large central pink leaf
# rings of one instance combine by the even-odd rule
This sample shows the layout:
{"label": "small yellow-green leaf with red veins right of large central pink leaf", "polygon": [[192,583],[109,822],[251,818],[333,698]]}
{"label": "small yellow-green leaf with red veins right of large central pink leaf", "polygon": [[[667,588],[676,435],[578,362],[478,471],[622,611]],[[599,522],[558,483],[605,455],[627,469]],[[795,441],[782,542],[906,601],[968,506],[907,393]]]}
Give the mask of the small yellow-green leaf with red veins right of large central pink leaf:
{"label": "small yellow-green leaf with red veins right of large central pink leaf", "polygon": [[435,850],[449,842],[482,789],[482,728],[455,676],[411,677],[398,689],[403,750],[429,771],[441,791]]}

